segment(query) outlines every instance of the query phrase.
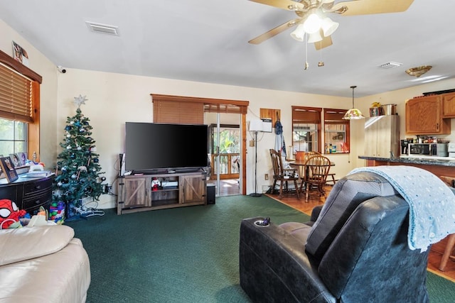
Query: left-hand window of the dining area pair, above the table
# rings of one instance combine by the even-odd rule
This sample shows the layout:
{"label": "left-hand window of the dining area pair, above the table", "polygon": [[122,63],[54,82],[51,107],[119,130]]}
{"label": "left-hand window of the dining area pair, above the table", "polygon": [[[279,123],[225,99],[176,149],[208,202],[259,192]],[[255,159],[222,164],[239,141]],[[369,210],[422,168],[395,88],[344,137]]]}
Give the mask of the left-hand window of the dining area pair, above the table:
{"label": "left-hand window of the dining area pair, above the table", "polygon": [[292,106],[292,149],[321,150],[321,111],[316,107]]}

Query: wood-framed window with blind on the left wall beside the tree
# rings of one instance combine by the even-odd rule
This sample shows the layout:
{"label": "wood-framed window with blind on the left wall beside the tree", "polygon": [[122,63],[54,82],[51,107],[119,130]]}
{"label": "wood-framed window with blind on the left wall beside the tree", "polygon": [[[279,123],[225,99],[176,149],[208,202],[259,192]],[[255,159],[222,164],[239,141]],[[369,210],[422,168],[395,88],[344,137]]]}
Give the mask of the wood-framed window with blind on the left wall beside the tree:
{"label": "wood-framed window with blind on the left wall beside the tree", "polygon": [[39,155],[42,77],[0,50],[0,154]]}

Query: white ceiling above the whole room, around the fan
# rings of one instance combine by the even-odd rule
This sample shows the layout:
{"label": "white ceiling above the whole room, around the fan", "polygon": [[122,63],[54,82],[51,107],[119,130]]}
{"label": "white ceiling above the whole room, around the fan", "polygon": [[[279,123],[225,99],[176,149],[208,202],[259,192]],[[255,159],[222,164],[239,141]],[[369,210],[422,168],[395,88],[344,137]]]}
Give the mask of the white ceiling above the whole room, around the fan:
{"label": "white ceiling above the whole room, around the fan", "polygon": [[[414,0],[402,13],[333,13],[333,45],[309,44],[304,70],[305,44],[292,30],[247,43],[295,13],[248,0],[0,1],[0,18],[55,65],[341,97],[352,96],[351,85],[363,97],[454,77],[454,12],[455,1]],[[85,21],[118,26],[119,36],[92,33]],[[387,62],[402,66],[378,67]],[[433,68],[405,74],[419,65]]]}

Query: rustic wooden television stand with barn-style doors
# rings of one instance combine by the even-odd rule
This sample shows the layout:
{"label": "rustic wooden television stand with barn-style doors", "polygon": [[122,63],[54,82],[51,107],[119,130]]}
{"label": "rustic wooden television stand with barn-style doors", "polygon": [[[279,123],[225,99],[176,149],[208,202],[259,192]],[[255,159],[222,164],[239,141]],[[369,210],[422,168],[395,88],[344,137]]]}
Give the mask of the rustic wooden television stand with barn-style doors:
{"label": "rustic wooden television stand with barn-style doors", "polygon": [[207,204],[207,179],[203,170],[167,172],[119,177],[117,214]]}

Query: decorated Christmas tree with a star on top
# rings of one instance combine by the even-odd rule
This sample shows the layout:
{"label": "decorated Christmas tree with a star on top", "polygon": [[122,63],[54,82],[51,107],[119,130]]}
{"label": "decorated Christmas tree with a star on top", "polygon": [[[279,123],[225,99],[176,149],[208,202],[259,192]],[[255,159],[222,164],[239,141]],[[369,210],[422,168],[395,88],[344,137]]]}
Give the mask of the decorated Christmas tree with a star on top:
{"label": "decorated Christmas tree with a star on top", "polygon": [[57,167],[61,173],[54,179],[53,202],[65,202],[67,218],[70,207],[81,206],[82,199],[92,197],[98,200],[102,194],[102,181],[98,154],[94,153],[95,140],[92,135],[90,119],[80,110],[85,104],[85,96],[74,98],[77,105],[75,116],[68,117],[65,126],[65,138],[60,146],[63,151],[58,155]]}

